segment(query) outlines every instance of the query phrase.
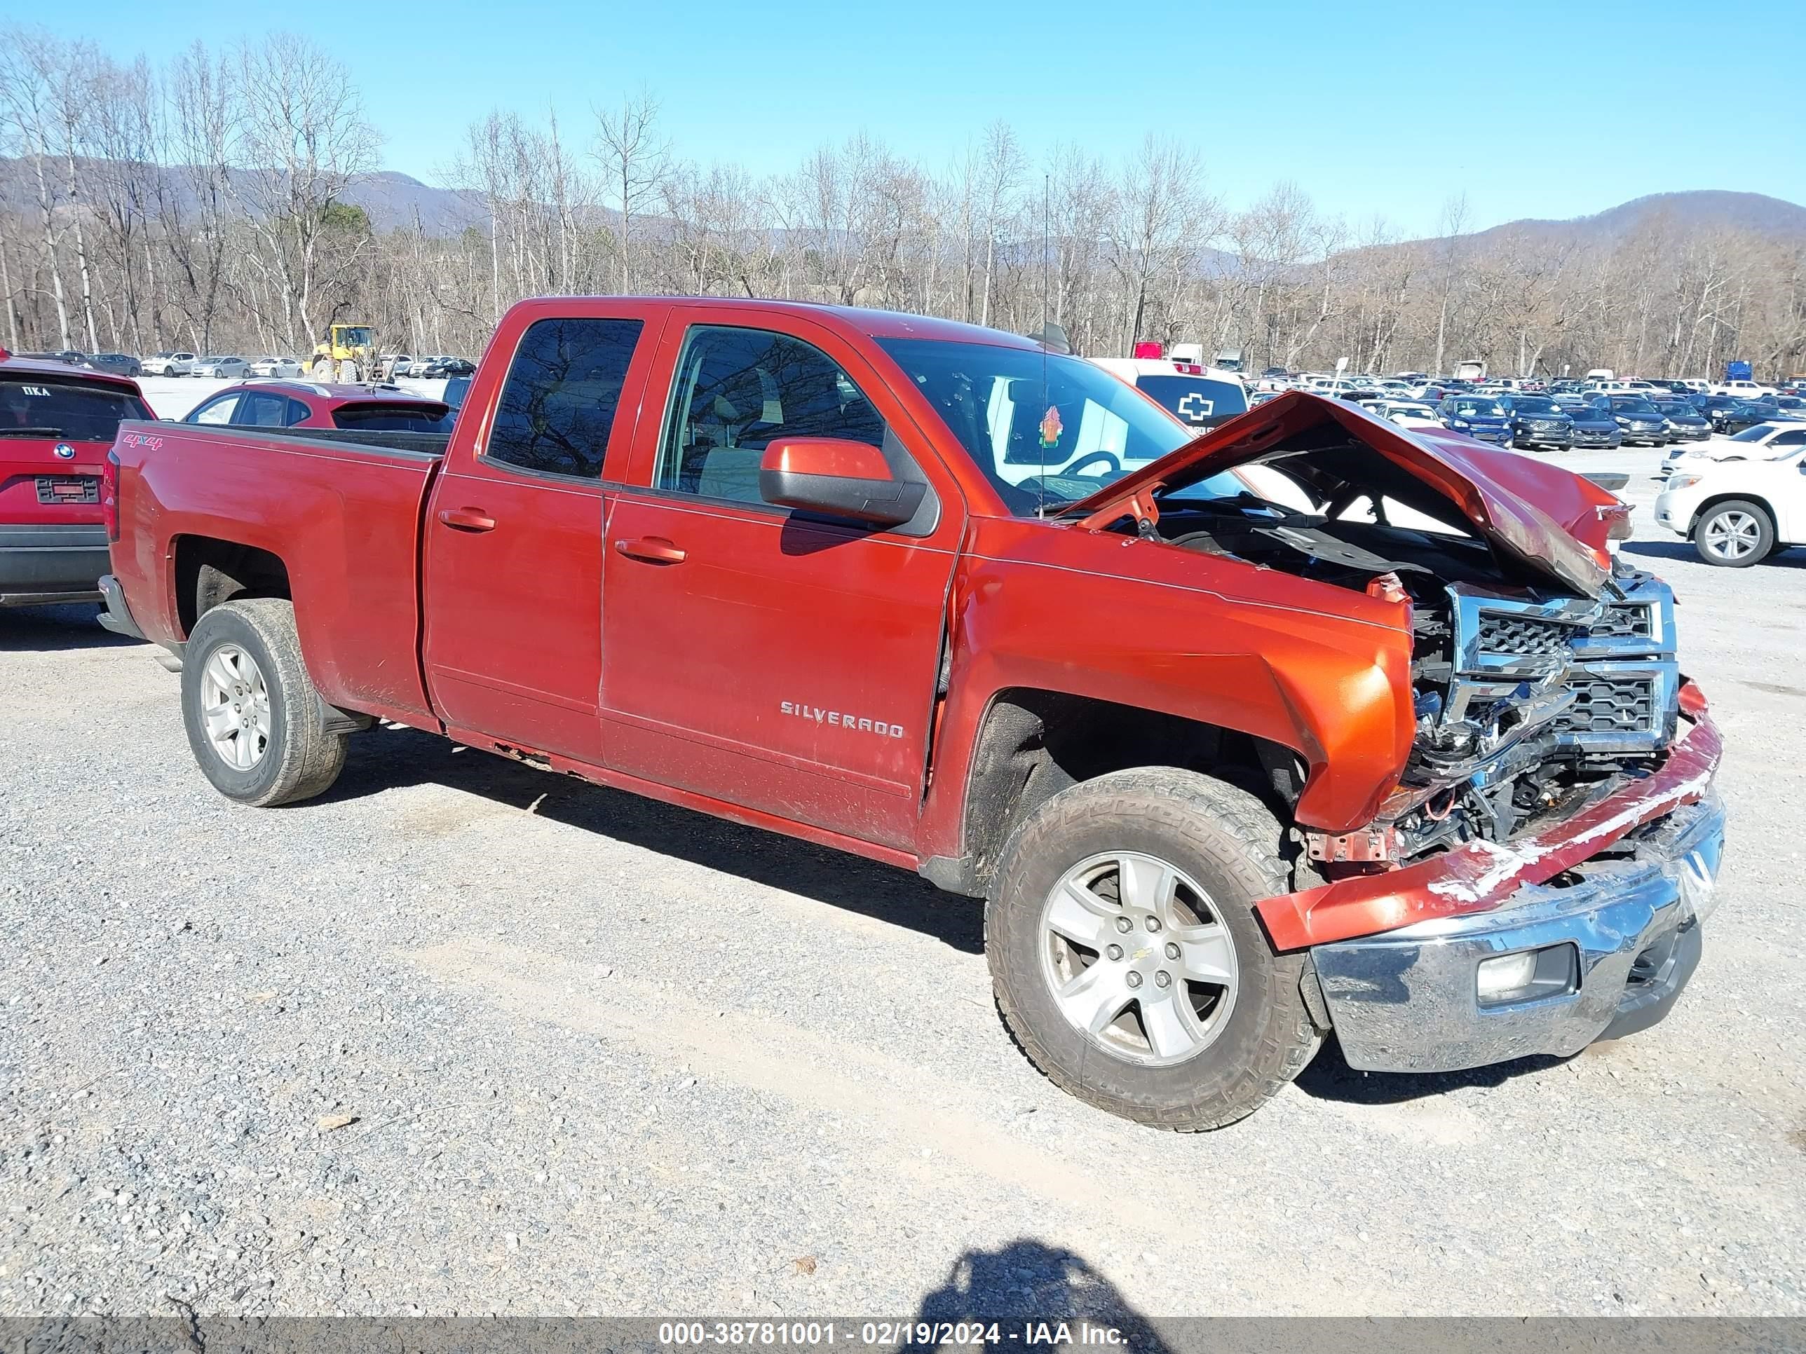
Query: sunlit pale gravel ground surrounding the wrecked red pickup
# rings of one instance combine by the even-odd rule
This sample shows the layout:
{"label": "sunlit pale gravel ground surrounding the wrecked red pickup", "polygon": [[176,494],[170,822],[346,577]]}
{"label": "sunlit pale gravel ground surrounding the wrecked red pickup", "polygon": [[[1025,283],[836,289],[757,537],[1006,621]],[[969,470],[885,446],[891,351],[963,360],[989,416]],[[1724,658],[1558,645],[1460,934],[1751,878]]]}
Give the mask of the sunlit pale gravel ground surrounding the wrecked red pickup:
{"label": "sunlit pale gravel ground surrounding the wrecked red pickup", "polygon": [[914,876],[412,731],[238,809],[143,646],[0,614],[0,1314],[1806,1312],[1806,551],[1699,565],[1652,462],[1571,459],[1730,744],[1676,1013],[1199,1137],[1044,1081]]}

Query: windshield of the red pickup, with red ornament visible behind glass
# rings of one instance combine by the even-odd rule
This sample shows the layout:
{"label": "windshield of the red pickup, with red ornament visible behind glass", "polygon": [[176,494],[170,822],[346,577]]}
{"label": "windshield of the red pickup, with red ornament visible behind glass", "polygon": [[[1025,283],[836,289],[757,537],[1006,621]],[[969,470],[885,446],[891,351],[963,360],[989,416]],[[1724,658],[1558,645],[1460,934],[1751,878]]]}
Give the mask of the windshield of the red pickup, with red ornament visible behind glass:
{"label": "windshield of the red pickup, with red ornament visible behind glass", "polygon": [[1076,502],[1196,435],[1082,357],[945,339],[878,345],[1017,516]]}

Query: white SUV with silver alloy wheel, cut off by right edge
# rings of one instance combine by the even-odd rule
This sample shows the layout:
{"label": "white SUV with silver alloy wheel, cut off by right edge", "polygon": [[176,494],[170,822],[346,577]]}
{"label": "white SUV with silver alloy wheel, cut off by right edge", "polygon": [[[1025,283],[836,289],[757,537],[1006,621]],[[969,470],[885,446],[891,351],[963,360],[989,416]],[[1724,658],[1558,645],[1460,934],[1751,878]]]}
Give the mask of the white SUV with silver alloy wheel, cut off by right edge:
{"label": "white SUV with silver alloy wheel, cut off by right edge", "polygon": [[1806,446],[1763,460],[1689,457],[1656,495],[1656,522],[1708,565],[1748,569],[1806,545]]}

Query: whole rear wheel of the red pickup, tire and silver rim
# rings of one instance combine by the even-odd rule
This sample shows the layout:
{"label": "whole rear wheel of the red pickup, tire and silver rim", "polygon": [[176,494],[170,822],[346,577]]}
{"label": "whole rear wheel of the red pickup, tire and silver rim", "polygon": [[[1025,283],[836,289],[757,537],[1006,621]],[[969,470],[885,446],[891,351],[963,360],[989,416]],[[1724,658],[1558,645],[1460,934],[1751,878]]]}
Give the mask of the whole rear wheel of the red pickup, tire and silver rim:
{"label": "whole rear wheel of the red pickup, tire and silver rim", "polygon": [[345,765],[294,632],[294,605],[246,598],[206,612],[182,650],[182,722],[200,773],[255,807],[309,800]]}

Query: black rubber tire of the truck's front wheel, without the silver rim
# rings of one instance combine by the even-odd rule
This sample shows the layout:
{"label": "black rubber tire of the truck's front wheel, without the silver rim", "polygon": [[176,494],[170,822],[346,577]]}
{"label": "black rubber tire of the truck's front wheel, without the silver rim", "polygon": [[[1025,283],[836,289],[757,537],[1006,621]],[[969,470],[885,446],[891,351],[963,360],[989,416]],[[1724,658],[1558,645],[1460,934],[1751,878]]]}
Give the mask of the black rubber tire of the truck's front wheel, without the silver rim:
{"label": "black rubber tire of the truck's front wheel, without the silver rim", "polygon": [[[1253,1114],[1317,1053],[1300,991],[1304,955],[1275,955],[1253,904],[1289,890],[1282,829],[1259,798],[1178,767],[1116,771],[1042,803],[1004,850],[984,913],[984,950],[1004,1024],[1046,1076],[1098,1108],[1176,1132]],[[1167,1065],[1112,1053],[1062,1015],[1044,971],[1042,908],[1093,856],[1141,852],[1208,895],[1239,966],[1235,1004],[1215,1042]]]}

